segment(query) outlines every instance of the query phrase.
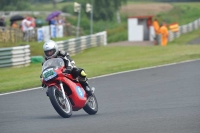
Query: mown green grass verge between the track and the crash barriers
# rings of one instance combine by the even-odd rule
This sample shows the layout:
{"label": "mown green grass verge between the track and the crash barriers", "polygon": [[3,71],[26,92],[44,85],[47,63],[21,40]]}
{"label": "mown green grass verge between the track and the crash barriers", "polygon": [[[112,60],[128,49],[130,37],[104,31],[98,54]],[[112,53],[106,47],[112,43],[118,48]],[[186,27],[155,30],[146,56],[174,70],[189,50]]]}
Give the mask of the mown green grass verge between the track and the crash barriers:
{"label": "mown green grass verge between the track and the crash barriers", "polygon": [[[200,58],[200,46],[101,46],[73,56],[88,77]],[[41,85],[41,64],[0,69],[0,93]]]}

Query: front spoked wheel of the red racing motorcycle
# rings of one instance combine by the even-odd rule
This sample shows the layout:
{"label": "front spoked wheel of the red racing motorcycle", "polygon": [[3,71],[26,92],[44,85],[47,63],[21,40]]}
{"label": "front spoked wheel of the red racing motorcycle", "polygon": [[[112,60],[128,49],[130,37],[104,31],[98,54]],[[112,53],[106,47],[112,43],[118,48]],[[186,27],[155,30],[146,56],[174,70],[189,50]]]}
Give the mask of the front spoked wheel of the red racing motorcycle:
{"label": "front spoked wheel of the red racing motorcycle", "polygon": [[62,96],[62,92],[58,90],[55,86],[51,86],[48,88],[48,94],[51,104],[53,105],[57,113],[64,118],[69,118],[72,115],[72,106],[68,97],[64,99]]}

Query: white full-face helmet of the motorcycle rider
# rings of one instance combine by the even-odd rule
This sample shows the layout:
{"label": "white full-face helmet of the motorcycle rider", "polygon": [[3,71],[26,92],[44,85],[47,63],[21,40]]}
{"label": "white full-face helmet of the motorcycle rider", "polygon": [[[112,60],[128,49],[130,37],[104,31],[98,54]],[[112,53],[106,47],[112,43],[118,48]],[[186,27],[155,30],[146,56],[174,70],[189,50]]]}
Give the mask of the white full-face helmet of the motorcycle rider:
{"label": "white full-face helmet of the motorcycle rider", "polygon": [[58,45],[53,40],[49,40],[44,43],[43,50],[47,59],[55,58],[58,54]]}

